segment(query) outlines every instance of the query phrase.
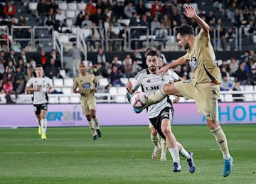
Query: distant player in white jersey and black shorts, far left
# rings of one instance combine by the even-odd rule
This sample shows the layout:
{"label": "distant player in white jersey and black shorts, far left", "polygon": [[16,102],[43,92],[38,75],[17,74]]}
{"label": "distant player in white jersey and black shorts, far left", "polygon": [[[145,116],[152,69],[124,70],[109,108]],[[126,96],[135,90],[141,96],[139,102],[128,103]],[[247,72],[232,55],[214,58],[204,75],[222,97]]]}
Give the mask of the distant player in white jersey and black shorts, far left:
{"label": "distant player in white jersey and black shorts, far left", "polygon": [[36,65],[36,77],[31,77],[26,84],[26,91],[33,94],[33,107],[38,121],[38,134],[46,140],[48,93],[53,91],[53,82],[43,75],[43,66]]}

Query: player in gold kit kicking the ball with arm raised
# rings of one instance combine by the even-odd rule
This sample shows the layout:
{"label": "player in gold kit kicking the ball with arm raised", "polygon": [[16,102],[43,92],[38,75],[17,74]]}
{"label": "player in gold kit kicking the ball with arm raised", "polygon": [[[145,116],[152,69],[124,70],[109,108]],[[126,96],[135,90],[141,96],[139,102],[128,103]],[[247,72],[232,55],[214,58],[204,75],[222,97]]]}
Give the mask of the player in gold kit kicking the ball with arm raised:
{"label": "player in gold kit kicking the ball with arm raised", "polygon": [[[198,35],[194,36],[193,27],[183,24],[177,30],[178,45],[187,49],[187,53],[173,63],[169,63],[159,70],[160,74],[169,71],[169,68],[190,62],[193,68],[194,78],[173,84],[164,85],[160,90],[152,94],[146,106],[156,104],[166,96],[178,95],[186,99],[194,99],[198,112],[206,117],[210,131],[215,136],[216,142],[223,153],[223,176],[230,175],[233,166],[233,158],[228,150],[226,136],[221,129],[218,117],[218,97],[220,95],[220,69],[215,63],[215,53],[210,44],[208,24],[197,14],[193,6],[184,6],[184,14],[193,19],[201,27]],[[146,108],[146,106],[144,108]],[[149,106],[150,107],[150,106]],[[139,109],[141,111],[141,109]]]}

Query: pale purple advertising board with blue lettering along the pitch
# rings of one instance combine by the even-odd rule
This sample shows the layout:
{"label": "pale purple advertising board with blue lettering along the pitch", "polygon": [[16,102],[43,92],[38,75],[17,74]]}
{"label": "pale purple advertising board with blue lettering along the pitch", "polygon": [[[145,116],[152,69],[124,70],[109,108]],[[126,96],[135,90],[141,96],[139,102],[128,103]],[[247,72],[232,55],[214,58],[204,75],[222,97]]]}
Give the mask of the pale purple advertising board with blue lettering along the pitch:
{"label": "pale purple advertising board with blue lettering along the pitch", "polygon": [[[206,124],[195,103],[174,104],[174,125]],[[0,127],[34,127],[36,116],[32,104],[1,104]],[[100,126],[148,125],[146,111],[135,114],[129,103],[98,103],[97,118]],[[87,126],[80,104],[49,104],[48,126]],[[220,124],[255,124],[255,102],[219,103]]]}

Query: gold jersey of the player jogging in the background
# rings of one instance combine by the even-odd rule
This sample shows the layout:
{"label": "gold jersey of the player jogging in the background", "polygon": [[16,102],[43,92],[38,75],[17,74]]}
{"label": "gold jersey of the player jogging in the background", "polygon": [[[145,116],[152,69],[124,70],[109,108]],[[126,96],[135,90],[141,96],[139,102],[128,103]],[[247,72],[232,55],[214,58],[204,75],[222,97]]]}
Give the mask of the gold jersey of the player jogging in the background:
{"label": "gold jersey of the player jogging in the background", "polygon": [[73,89],[82,89],[82,97],[94,97],[93,88],[97,84],[97,78],[92,73],[86,73],[86,75],[78,75],[75,77]]}

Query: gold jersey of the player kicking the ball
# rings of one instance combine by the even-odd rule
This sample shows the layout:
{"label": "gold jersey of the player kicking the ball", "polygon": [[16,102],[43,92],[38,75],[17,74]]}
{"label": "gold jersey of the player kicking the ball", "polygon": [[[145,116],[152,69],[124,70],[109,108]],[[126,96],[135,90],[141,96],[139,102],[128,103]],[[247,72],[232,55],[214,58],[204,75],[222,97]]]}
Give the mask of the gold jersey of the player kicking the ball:
{"label": "gold jersey of the player kicking the ball", "polygon": [[185,59],[189,60],[196,83],[213,82],[220,84],[220,69],[215,61],[210,38],[201,34],[196,36],[192,48],[188,49]]}

